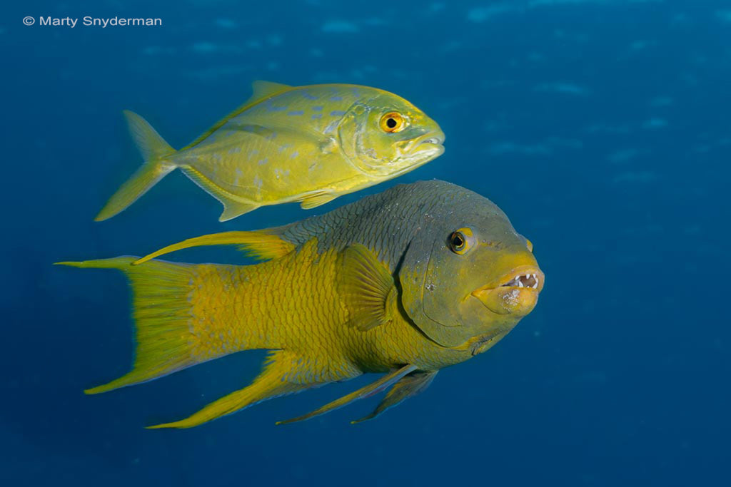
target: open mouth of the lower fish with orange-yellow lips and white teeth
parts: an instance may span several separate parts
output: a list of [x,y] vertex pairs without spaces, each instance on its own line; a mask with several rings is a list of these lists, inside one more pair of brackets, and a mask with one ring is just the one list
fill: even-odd
[[538,302],[545,275],[535,266],[512,269],[499,279],[471,292],[488,310],[499,315],[527,315]]

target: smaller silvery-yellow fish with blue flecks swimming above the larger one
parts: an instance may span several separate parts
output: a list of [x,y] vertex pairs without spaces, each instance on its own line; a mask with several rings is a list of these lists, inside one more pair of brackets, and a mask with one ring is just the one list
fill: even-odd
[[181,150],[126,111],[145,164],[96,221],[121,212],[180,168],[224,204],[221,221],[268,204],[314,208],[389,180],[444,152],[444,134],[409,101],[357,85],[257,81],[254,95]]

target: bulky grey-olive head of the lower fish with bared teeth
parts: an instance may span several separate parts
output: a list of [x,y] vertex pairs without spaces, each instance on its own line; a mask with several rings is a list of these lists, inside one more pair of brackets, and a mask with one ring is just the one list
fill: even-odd
[[532,244],[488,199],[433,184],[444,193],[425,208],[399,269],[404,310],[440,345],[499,340],[533,310],[543,288]]

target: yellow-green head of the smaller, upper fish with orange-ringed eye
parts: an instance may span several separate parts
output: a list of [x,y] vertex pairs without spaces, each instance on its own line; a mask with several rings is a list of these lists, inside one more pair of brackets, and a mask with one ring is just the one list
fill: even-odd
[[373,90],[338,127],[341,147],[360,171],[379,179],[409,172],[444,153],[444,132],[409,101]]

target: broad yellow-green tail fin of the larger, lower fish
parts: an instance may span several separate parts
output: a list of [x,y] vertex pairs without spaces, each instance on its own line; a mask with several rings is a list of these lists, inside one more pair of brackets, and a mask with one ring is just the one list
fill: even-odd
[[[132,372],[103,386],[87,389],[86,394],[111,391],[162,377],[200,364],[225,353],[200,353],[192,326],[189,296],[197,266],[149,261],[132,266],[137,257],[116,257],[96,261],[58,262],[59,265],[96,269],[118,269],[132,284],[135,307],[137,350]],[[219,348],[220,349],[220,348]]]

